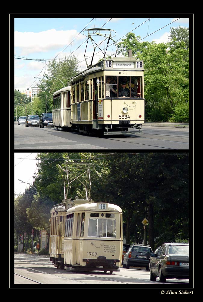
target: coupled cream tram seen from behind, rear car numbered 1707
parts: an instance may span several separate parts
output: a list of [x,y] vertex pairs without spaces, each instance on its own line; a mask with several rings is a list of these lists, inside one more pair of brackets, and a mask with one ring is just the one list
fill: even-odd
[[122,232],[120,207],[66,200],[51,210],[50,260],[61,269],[112,274],[121,266]]

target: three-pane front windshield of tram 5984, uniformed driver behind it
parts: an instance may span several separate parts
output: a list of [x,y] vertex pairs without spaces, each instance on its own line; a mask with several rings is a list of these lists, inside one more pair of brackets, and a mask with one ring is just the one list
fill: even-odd
[[106,76],[106,98],[140,98],[141,77],[138,76]]

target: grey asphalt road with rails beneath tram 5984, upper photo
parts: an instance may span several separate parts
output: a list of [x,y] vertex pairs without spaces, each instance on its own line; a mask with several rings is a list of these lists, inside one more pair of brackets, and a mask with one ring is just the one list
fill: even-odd
[[25,127],[14,123],[14,149],[162,149],[188,150],[189,124],[145,123],[142,132],[97,137],[53,127]]

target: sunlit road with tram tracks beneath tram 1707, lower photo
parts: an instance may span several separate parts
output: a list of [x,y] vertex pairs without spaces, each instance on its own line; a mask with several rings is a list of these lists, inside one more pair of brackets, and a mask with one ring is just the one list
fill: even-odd
[[[143,284],[145,288],[152,286],[163,289],[170,284],[180,288],[189,288],[189,280],[167,279],[160,283],[150,281],[149,271],[142,268],[120,268],[119,272],[113,272],[112,275],[107,271],[67,271],[55,268],[49,261],[49,256],[28,255],[14,253],[14,284],[28,284],[33,286],[46,287],[52,284],[52,288],[57,288],[58,284],[64,287],[87,288],[93,284],[94,287],[107,286],[114,288],[136,287]],[[15,285],[13,284],[13,287]],[[12,284],[10,284],[12,287]],[[16,286],[17,287],[17,286]],[[161,291],[161,290],[160,290]]]

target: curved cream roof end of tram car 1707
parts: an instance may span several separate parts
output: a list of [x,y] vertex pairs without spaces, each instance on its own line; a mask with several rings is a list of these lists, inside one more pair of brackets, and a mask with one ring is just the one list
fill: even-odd
[[[99,211],[101,212],[102,210],[97,209],[98,208],[98,204],[101,204],[101,202],[90,202],[88,204],[79,204],[75,207],[72,207],[70,209],[67,210],[67,213],[72,212],[72,211]],[[109,204],[109,203],[103,203],[103,204],[107,204],[107,209],[103,210],[103,212],[120,212],[122,213],[122,210],[119,206],[115,205],[115,204]]]

